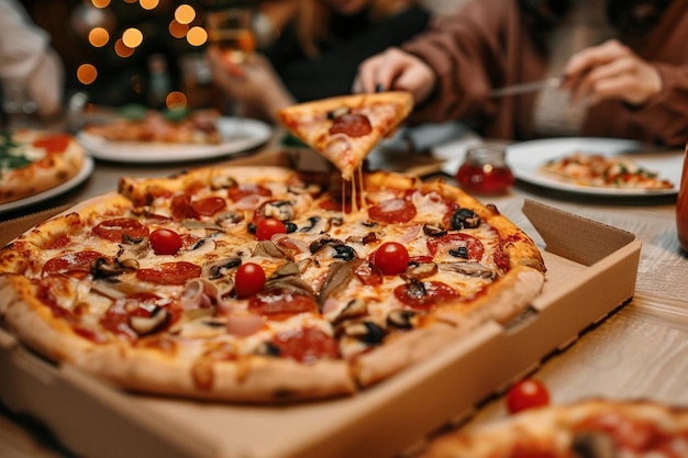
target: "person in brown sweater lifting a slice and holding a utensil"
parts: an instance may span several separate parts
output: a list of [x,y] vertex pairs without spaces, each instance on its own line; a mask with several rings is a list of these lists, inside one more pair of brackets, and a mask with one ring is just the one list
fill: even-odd
[[[356,91],[409,90],[410,122],[460,119],[523,141],[688,143],[688,0],[476,0],[364,62]],[[563,76],[550,88],[500,87]]]

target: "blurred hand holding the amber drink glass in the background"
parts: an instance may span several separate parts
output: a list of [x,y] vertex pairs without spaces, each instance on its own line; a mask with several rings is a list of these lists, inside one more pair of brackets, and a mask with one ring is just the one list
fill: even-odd
[[277,110],[295,102],[265,56],[256,53],[236,64],[215,46],[206,55],[213,82],[240,105],[242,114],[271,120]]

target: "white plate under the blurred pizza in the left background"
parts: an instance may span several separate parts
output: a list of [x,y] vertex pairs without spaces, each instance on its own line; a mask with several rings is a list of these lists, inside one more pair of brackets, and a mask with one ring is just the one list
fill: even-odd
[[155,164],[210,159],[245,152],[267,142],[273,133],[262,121],[226,116],[218,120],[218,130],[222,142],[217,145],[110,142],[85,132],[79,133],[77,139],[98,159]]

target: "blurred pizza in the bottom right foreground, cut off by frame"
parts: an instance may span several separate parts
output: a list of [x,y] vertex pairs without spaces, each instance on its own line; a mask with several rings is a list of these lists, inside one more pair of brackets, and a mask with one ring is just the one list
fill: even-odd
[[530,409],[432,442],[423,458],[680,458],[688,409],[590,399]]

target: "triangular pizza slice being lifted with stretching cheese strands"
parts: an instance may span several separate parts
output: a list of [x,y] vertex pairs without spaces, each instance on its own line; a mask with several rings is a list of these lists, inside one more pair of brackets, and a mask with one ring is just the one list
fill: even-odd
[[410,92],[340,96],[284,108],[281,123],[352,180],[366,156],[413,109]]

